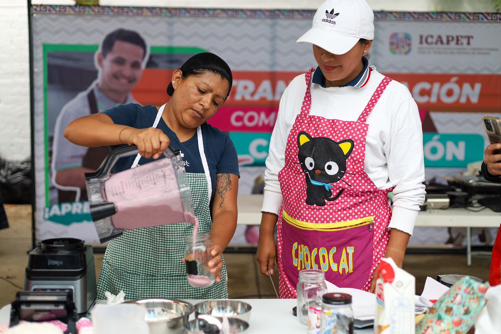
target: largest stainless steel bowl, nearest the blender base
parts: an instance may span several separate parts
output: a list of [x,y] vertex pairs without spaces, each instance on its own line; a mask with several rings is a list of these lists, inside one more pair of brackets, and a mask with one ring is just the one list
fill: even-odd
[[126,302],[146,308],[145,320],[150,334],[182,334],[194,309],[192,304],[176,299],[150,298]]

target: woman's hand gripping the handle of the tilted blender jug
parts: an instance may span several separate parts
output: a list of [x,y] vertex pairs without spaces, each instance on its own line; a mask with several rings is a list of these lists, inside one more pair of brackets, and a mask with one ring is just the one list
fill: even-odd
[[139,154],[145,158],[158,158],[167,149],[170,143],[169,137],[162,130],[154,127],[145,129],[125,128],[120,139],[128,145],[136,145]]

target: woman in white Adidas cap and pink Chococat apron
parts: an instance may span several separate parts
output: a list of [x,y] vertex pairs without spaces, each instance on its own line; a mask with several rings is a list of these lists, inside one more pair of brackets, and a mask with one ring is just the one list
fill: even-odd
[[373,22],[363,0],[328,0],[298,40],[313,44],[318,67],[280,101],[256,256],[265,275],[277,256],[283,298],[296,297],[301,269],[374,291],[383,256],[402,265],[424,201],[418,109],[404,85],[368,65]]

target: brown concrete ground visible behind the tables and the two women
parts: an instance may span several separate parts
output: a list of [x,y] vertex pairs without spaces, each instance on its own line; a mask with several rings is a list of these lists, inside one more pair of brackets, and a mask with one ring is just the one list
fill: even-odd
[[[31,206],[5,206],[10,228],[0,230],[0,308],[11,303],[24,285],[28,251],[31,247]],[[228,271],[230,298],[274,298],[270,279],[261,275],[255,254],[224,254]],[[96,273],[99,275],[103,254],[95,254]],[[416,277],[416,293],[421,293],[426,276],[438,274],[465,274],[486,280],[489,259],[472,260],[466,266],[465,255],[407,254],[403,268]],[[278,269],[275,269],[278,272]],[[278,288],[278,279],[274,278]]]

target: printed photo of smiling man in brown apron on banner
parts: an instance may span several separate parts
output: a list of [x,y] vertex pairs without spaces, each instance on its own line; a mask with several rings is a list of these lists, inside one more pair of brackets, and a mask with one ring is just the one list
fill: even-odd
[[86,201],[85,173],[94,172],[108,147],[83,147],[68,141],[64,129],[73,120],[117,105],[137,103],[130,91],[141,80],[148,59],[144,39],[135,31],[117,29],[104,38],[94,55],[97,79],[66,103],[57,116],[52,145],[51,179],[58,203]]

